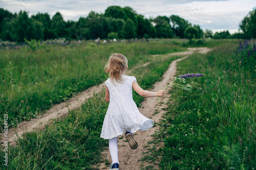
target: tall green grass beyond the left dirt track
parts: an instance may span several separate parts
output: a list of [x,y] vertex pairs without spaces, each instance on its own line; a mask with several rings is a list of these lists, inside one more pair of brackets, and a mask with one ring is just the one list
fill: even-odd
[[[129,67],[150,61],[148,55],[184,51],[175,43],[124,42],[58,46],[44,44],[37,51],[1,50],[0,112],[9,116],[9,126],[36,117],[74,93],[102,83],[103,68],[111,53],[122,53]],[[3,125],[3,117],[0,124]],[[3,126],[2,126],[3,127]]]

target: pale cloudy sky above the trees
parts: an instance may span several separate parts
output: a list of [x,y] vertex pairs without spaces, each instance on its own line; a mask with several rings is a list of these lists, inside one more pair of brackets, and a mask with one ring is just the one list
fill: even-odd
[[179,15],[202,29],[238,32],[241,20],[256,7],[255,0],[0,0],[0,8],[10,12],[28,11],[29,15],[59,11],[65,20],[77,21],[90,11],[104,13],[111,5],[132,7],[146,18]]

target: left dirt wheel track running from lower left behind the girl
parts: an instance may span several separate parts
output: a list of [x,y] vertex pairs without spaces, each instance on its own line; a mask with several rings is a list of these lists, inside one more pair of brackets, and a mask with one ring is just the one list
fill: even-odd
[[[193,54],[194,52],[208,52],[209,48],[188,48],[188,52],[181,52],[181,53],[172,53],[172,54],[167,54],[167,56],[175,56],[175,55],[190,55]],[[163,55],[153,55],[152,57],[157,57],[157,56],[163,56]],[[144,63],[139,66],[146,66],[150,62]],[[136,69],[137,67],[134,67],[133,69]],[[129,74],[131,70],[127,70],[127,74]],[[166,84],[164,84],[166,85]],[[93,96],[93,93],[99,93],[103,88],[104,88],[104,83],[98,85],[98,86],[93,86],[90,87],[87,90],[84,90],[81,93],[76,94],[66,102],[62,102],[60,104],[54,105],[51,109],[47,110],[46,113],[43,115],[38,115],[37,118],[32,118],[29,121],[24,121],[21,122],[17,125],[16,128],[11,128],[8,131],[8,136],[9,140],[8,142],[10,144],[14,144],[15,140],[18,137],[22,138],[22,135],[25,132],[32,132],[37,129],[43,129],[45,128],[45,125],[50,124],[51,120],[57,119],[57,118],[62,118],[68,115],[69,110],[73,109],[78,109],[82,103],[84,103],[87,99],[91,98]],[[160,88],[158,88],[160,89]],[[149,116],[150,117],[150,116]],[[1,133],[1,138],[3,139],[4,133]],[[148,141],[148,140],[147,140]]]

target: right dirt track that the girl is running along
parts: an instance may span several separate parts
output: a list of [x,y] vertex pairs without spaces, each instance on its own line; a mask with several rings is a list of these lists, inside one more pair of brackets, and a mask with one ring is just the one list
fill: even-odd
[[[156,84],[154,84],[154,89],[152,89],[152,91],[158,91],[160,89],[163,89],[164,87],[166,87],[171,80],[175,79],[175,75],[176,75],[176,64],[177,62],[185,59],[188,57],[188,55],[193,54],[193,52],[198,51],[198,53],[207,53],[210,51],[209,48],[203,47],[203,48],[193,48],[190,50],[193,51],[189,51],[189,52],[181,52],[181,53],[175,53],[176,55],[187,55],[183,58],[174,60],[172,63],[170,63],[168,70],[165,72],[165,74],[163,75],[163,80],[161,82],[157,82]],[[174,56],[175,54],[169,54],[169,56]],[[160,55],[157,55],[160,56]],[[153,56],[153,57],[157,57],[157,56]],[[152,117],[151,119],[154,120],[154,122],[158,123],[159,119],[161,119],[162,115],[164,114],[164,110],[163,108],[166,108],[166,103],[168,101],[168,99],[170,98],[171,94],[168,94],[167,91],[170,88],[166,89],[166,94],[164,95],[163,98],[160,99],[159,102],[157,102],[158,98],[146,98],[143,102],[141,107],[139,108],[139,111],[146,117]],[[163,103],[163,104],[160,104]],[[157,114],[155,114],[155,111],[158,111]],[[138,148],[136,150],[132,150],[129,147],[129,144],[125,141],[125,137],[124,134],[122,135],[122,137],[119,136],[118,139],[118,159],[119,159],[119,164],[120,164],[120,168],[119,170],[125,170],[125,169],[141,169],[140,165],[142,162],[138,161],[143,152],[146,151],[146,149],[144,148],[145,145],[147,145],[147,142],[152,140],[153,137],[152,135],[155,133],[155,131],[159,131],[159,127],[153,127],[152,129],[148,130],[148,131],[137,131],[135,134],[135,138],[138,142]],[[122,138],[122,139],[120,139]],[[111,156],[109,153],[109,149],[103,151],[102,153],[102,160],[108,159],[109,162],[111,162]],[[144,166],[146,166],[147,163],[144,162]],[[148,164],[150,165],[150,164]],[[154,164],[151,164],[154,165]],[[108,169],[109,165],[105,165],[104,163],[99,163],[97,165],[95,165],[95,167],[98,167],[99,169]],[[154,167],[155,169],[159,169],[156,165]]]

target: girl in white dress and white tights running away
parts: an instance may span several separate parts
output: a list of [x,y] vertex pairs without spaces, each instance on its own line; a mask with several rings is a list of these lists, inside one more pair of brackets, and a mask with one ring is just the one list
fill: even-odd
[[117,137],[126,131],[125,137],[132,149],[138,147],[133,134],[136,131],[145,131],[153,127],[153,120],[143,116],[133,101],[133,89],[141,96],[160,97],[164,90],[151,92],[143,90],[134,76],[126,76],[128,61],[122,54],[112,54],[105,66],[109,72],[109,79],[105,81],[105,101],[110,102],[104,118],[100,137],[109,139],[109,148],[112,158],[110,169],[118,169]]

